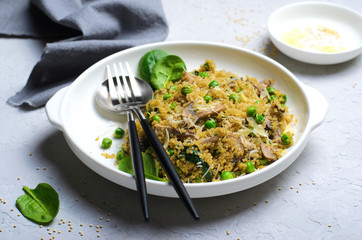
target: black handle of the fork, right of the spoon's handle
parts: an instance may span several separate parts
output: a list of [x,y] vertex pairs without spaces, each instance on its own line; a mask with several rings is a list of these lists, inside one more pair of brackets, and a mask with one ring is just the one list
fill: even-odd
[[155,132],[153,131],[153,129],[151,128],[149,123],[147,122],[142,111],[139,108],[134,108],[134,111],[135,111],[138,119],[140,120],[143,131],[145,132],[159,162],[161,163],[162,168],[165,170],[176,193],[180,197],[180,199],[183,202],[183,204],[185,205],[186,209],[193,216],[193,218],[195,220],[198,220],[200,218],[199,214],[197,213],[185,186],[183,185],[174,166],[172,165],[172,162],[171,162],[170,158],[168,157],[165,149],[163,148],[160,140],[158,139],[157,135],[155,134]]

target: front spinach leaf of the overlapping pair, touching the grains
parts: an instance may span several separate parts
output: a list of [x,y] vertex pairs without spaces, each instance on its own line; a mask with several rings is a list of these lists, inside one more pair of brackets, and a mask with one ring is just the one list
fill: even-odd
[[176,55],[168,55],[158,61],[152,70],[151,83],[156,90],[164,88],[169,81],[180,80],[186,64]]

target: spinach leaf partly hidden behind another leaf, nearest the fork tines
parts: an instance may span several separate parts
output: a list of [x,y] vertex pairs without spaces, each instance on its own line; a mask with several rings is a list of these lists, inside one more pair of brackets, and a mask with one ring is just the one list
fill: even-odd
[[147,52],[138,62],[138,76],[151,84],[151,73],[156,63],[168,55],[167,52],[155,49]]

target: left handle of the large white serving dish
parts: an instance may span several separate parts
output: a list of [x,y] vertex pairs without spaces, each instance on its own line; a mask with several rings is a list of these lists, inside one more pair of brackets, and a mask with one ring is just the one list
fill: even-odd
[[67,89],[68,87],[60,89],[54,94],[52,98],[49,99],[49,101],[45,105],[45,112],[48,116],[49,122],[62,132],[63,125],[60,116],[60,106]]

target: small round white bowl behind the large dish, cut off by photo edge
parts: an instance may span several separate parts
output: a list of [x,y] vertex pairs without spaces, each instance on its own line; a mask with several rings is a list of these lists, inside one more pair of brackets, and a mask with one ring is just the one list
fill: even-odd
[[[345,50],[324,52],[311,48],[302,49],[286,43],[286,39],[283,39],[283,36],[291,33],[293,29],[310,30],[311,26],[322,26],[335,31],[339,37],[335,39],[335,43],[338,41]],[[362,53],[362,15],[337,4],[300,2],[284,6],[269,16],[267,28],[271,41],[281,52],[302,62],[336,64],[351,60]],[[318,40],[314,43],[318,45]]]

